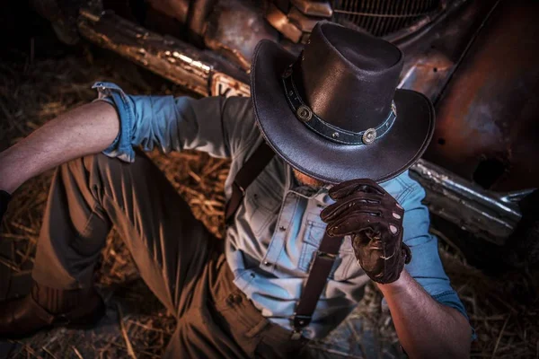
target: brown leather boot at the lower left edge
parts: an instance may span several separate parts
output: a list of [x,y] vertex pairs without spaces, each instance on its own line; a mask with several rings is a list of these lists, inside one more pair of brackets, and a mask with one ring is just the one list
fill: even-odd
[[0,303],[0,338],[53,327],[91,328],[104,314],[105,304],[93,288],[65,291],[34,283],[26,297]]

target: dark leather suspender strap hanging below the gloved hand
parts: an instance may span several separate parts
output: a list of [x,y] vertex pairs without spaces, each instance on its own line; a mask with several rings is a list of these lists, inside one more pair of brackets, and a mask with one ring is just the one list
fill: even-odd
[[309,272],[307,283],[297,303],[296,312],[292,316],[292,339],[301,337],[302,329],[313,319],[316,303],[320,299],[323,288],[331,273],[335,259],[339,255],[343,237],[330,237],[324,232],[320,247],[316,251],[313,266]]

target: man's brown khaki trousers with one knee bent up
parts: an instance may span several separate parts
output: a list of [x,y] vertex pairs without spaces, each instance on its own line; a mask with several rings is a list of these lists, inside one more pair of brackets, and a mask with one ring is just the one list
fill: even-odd
[[305,345],[266,320],[234,285],[222,241],[190,213],[153,162],[102,154],[57,169],[33,270],[41,285],[92,284],[112,225],[140,275],[178,318],[165,357],[290,357]]

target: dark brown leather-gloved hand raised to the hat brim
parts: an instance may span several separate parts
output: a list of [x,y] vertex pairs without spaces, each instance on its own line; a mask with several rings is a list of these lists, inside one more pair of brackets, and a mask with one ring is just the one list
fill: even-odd
[[377,283],[399,279],[411,250],[402,243],[404,209],[373,180],[348,180],[329,191],[321,217],[331,237],[350,235],[359,266]]

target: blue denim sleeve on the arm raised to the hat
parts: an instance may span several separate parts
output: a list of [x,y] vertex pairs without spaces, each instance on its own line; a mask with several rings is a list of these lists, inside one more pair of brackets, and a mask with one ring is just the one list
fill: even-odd
[[406,270],[437,302],[455,308],[469,320],[463,302],[451,287],[442,266],[437,237],[429,233],[429,209],[421,204],[425,190],[418,182],[406,177],[406,194],[400,200],[404,208],[402,241],[410,247],[412,255]]

